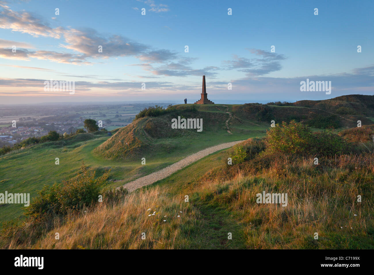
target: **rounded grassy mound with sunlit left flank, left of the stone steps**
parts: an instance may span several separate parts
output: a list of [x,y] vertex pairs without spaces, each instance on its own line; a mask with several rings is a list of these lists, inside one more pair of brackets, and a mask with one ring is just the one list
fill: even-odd
[[[203,132],[196,129],[172,129],[172,118],[202,118]],[[126,127],[94,150],[96,154],[111,160],[135,159],[147,156],[161,156],[177,153],[189,146],[189,141],[202,135],[224,133],[223,125],[227,115],[216,112],[194,111],[189,106],[176,106],[175,110],[157,117],[142,117]],[[184,140],[177,143],[176,140]]]

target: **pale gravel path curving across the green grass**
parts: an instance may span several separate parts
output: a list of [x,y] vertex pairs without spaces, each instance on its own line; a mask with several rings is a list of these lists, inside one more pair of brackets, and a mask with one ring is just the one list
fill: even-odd
[[[234,146],[237,143],[242,142],[243,140],[239,141],[233,141],[233,142],[228,142],[228,143],[222,143],[216,146],[212,146],[209,148],[206,148],[204,150],[201,150],[197,153],[194,153],[187,158],[181,159],[178,162],[175,162],[172,165],[169,165],[159,171],[153,172],[149,175],[146,175],[144,177],[137,178],[136,180],[130,181],[129,183],[126,183],[124,186],[129,192],[132,192],[140,187],[146,186],[148,184],[152,184],[158,180],[162,180],[163,178],[168,177],[169,175],[173,174],[174,172],[177,172],[178,170],[186,167],[187,165],[198,161],[199,159],[208,156],[214,152],[217,152],[222,149],[226,149],[229,147]],[[119,188],[119,187],[118,187]]]

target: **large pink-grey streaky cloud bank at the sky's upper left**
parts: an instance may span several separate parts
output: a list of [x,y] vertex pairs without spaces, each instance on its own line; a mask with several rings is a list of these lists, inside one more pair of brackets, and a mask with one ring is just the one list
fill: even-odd
[[[149,3],[152,4],[152,3]],[[92,28],[77,30],[74,28],[52,28],[42,19],[36,18],[27,12],[18,13],[7,6],[0,12],[0,28],[27,33],[34,37],[44,36],[63,39],[60,47],[70,49],[78,54],[61,53],[52,51],[30,52],[25,49],[17,50],[16,55],[9,54],[4,49],[1,51],[3,58],[22,59],[37,58],[48,59],[53,62],[70,63],[76,65],[92,64],[93,59],[106,59],[119,56],[134,56],[141,61],[163,62],[176,58],[176,53],[167,49],[154,49],[148,45],[138,43],[120,35],[104,36]],[[9,46],[7,40],[3,40]],[[102,46],[102,52],[98,47]],[[23,48],[28,48],[23,47]],[[19,54],[18,54],[19,51]]]

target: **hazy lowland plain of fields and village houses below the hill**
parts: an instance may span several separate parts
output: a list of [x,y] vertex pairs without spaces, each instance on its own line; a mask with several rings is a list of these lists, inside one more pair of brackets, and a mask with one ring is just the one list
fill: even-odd
[[[51,103],[0,105],[0,148],[13,146],[30,137],[42,137],[50,131],[70,134],[84,127],[85,119],[102,120],[109,131],[128,125],[139,111],[154,103]],[[169,103],[161,103],[168,106]],[[16,120],[16,127],[12,127]]]

